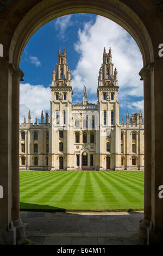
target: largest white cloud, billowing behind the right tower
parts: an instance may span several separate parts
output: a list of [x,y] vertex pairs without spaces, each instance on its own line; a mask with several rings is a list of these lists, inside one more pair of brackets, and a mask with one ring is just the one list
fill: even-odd
[[109,19],[97,16],[93,25],[87,22],[83,31],[79,29],[78,38],[74,48],[80,53],[80,59],[76,69],[72,71],[74,93],[83,91],[84,85],[87,92],[96,93],[103,50],[105,47],[106,52],[109,52],[111,47],[112,63],[118,71],[120,100],[130,96],[143,97],[143,82],[139,76],[143,66],[141,53],[134,39],[122,27]]

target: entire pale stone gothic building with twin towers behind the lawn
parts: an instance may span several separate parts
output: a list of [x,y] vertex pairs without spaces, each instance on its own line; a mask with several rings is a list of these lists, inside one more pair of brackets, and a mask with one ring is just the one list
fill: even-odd
[[[52,72],[51,118],[46,122],[20,125],[20,169],[122,170],[144,169],[144,125],[142,113],[133,113],[119,123],[117,69],[111,48],[104,48],[99,69],[98,103],[72,104],[71,72],[66,50],[58,52],[57,72]],[[49,120],[51,122],[49,123]]]

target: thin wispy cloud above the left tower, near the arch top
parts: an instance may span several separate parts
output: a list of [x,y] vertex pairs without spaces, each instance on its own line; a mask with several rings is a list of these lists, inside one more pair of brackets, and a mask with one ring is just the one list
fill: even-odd
[[65,31],[67,27],[72,26],[72,22],[70,21],[71,17],[72,15],[66,15],[59,17],[57,20],[54,21],[54,28],[59,31],[59,36],[61,36],[61,38],[65,37]]

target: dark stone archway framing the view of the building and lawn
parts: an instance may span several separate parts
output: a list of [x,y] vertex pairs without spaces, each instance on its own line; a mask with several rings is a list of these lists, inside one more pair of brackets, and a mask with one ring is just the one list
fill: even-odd
[[[162,163],[162,80],[163,15],[152,0],[29,0],[11,1],[1,15],[1,186],[3,209],[0,218],[2,243],[21,243],[24,226],[20,220],[18,172],[19,83],[23,79],[20,60],[24,47],[41,26],[56,17],[92,13],[108,17],[126,29],[139,45],[143,58],[140,71],[145,102],[145,214],[140,223],[140,243],[158,243],[163,233],[163,203],[158,188],[163,184]],[[10,228],[9,228],[10,227]],[[16,233],[15,231],[16,230]]]

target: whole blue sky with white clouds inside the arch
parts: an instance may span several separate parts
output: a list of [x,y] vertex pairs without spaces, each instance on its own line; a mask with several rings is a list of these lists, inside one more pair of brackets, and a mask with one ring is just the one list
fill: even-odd
[[133,38],[115,22],[93,14],[73,14],[55,19],[39,29],[29,40],[21,59],[24,82],[20,84],[20,122],[28,116],[40,119],[41,110],[50,111],[52,70],[66,48],[71,70],[73,103],[82,101],[86,86],[87,100],[97,102],[98,71],[103,49],[112,50],[112,62],[118,70],[120,123],[126,111],[143,112],[143,82],[139,71],[143,63]]

